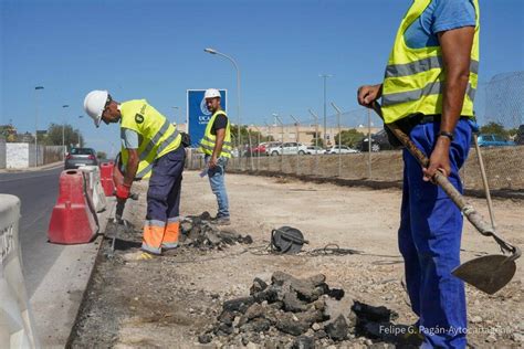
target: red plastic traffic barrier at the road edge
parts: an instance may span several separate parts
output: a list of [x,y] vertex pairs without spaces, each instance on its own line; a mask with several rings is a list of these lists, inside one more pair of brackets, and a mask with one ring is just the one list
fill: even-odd
[[92,241],[96,232],[97,218],[87,198],[84,172],[62,171],[59,200],[49,223],[49,241],[57,244],[82,244]]

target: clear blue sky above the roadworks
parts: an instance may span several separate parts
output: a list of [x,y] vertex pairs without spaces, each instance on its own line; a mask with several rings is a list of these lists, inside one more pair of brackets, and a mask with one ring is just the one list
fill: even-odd
[[[172,119],[171,106],[186,106],[186,89],[228,88],[235,119],[234,70],[205,53],[208,46],[240,65],[245,124],[262,124],[272,113],[308,119],[310,107],[322,115],[321,73],[334,75],[328,101],[355,109],[356,88],[380,82],[410,1],[0,3],[0,123],[12,119],[20,130],[32,131],[33,88],[43,85],[39,128],[65,117],[82,127],[91,146],[109,150],[111,141],[118,145],[117,125],[96,129],[90,118],[77,118],[91,89],[109,89],[117,101],[146,98]],[[481,81],[523,71],[524,1],[481,0]]]

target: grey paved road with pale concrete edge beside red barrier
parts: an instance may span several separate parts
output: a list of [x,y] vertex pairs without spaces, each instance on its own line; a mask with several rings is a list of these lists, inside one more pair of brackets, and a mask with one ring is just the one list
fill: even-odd
[[[0,193],[22,202],[19,226],[23,274],[36,336],[43,348],[66,343],[94,265],[101,239],[81,245],[48,242],[48,226],[59,194],[62,167],[17,173],[0,173]],[[111,212],[109,201],[107,212]],[[98,215],[101,232],[107,212]]]

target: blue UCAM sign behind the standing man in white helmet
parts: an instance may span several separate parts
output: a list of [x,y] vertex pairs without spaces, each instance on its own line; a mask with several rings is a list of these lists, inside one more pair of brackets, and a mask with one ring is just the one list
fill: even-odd
[[[228,113],[228,91],[220,91],[220,105],[222,109]],[[208,110],[206,106],[206,99],[203,94],[206,89],[188,89],[187,91],[187,124],[188,124],[188,134],[191,137],[191,147],[198,147],[200,139],[203,137],[206,127],[208,126],[209,120],[212,117],[212,113]]]

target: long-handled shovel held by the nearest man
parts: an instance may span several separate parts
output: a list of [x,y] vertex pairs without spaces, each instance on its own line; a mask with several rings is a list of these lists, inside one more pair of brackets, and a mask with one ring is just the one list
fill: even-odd
[[[378,103],[375,102],[373,104],[373,109],[384,120],[382,110]],[[429,159],[419,148],[417,148],[411,139],[409,139],[409,136],[406,135],[396,124],[385,125],[417,159],[420,166],[427,168]],[[501,247],[502,255],[493,254],[473,258],[459,265],[451,272],[454,276],[480,290],[490,295],[494,294],[504,287],[513,278],[513,275],[515,275],[515,261],[521,256],[521,250],[496,234],[494,226],[484,221],[482,215],[464,199],[453,184],[451,184],[444,174],[437,171],[432,181],[442,188],[479,233],[484,236],[493,237]],[[510,255],[506,255],[505,253],[510,253]]]

